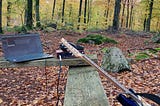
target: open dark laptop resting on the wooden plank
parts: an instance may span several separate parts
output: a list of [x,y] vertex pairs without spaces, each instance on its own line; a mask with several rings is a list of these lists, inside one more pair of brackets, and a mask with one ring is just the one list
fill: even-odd
[[10,62],[53,57],[43,52],[39,34],[5,35],[1,41],[4,57]]

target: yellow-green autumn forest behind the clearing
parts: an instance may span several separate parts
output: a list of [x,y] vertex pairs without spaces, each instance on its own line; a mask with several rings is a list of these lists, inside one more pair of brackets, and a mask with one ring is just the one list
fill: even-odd
[[[27,1],[32,0],[3,0],[3,30],[26,24]],[[54,23],[58,29],[96,30],[110,28],[115,21],[118,29],[157,32],[160,31],[159,5],[160,0],[33,0],[31,7],[33,26],[37,22],[42,26]],[[118,18],[114,20],[116,15]]]

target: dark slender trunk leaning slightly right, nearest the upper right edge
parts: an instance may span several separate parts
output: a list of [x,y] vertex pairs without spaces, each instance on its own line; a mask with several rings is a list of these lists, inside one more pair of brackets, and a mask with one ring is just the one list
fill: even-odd
[[152,10],[153,10],[153,2],[154,0],[151,0],[149,3],[149,14],[148,14],[148,18],[146,20],[146,32],[150,31],[150,25],[151,25],[151,18],[152,18]]

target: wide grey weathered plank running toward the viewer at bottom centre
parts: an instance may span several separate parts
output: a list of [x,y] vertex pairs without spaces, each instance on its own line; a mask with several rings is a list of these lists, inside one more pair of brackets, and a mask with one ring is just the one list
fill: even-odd
[[64,106],[109,106],[99,74],[93,67],[70,68]]

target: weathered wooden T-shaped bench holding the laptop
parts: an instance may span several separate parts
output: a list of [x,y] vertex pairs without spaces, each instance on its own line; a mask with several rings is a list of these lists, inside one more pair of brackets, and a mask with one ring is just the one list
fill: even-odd
[[[89,55],[88,57],[97,61],[95,55]],[[0,68],[58,65],[59,60],[56,58],[10,63],[0,57]],[[63,59],[62,65],[70,66],[64,106],[109,106],[98,72],[93,67],[80,58]]]

